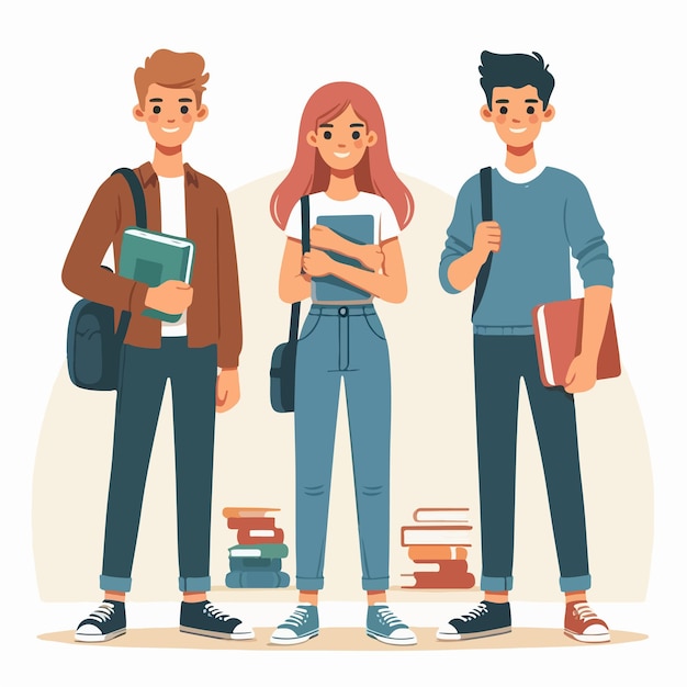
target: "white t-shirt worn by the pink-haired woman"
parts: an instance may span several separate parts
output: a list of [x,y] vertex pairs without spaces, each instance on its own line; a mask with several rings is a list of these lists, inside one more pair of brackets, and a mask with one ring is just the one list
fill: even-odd
[[[335,201],[324,191],[311,195],[311,226],[318,215],[372,215],[374,217],[375,243],[395,238],[401,234],[396,215],[391,205],[374,193],[361,191],[348,201]],[[299,201],[289,215],[284,229],[286,236],[301,240],[301,202]]]

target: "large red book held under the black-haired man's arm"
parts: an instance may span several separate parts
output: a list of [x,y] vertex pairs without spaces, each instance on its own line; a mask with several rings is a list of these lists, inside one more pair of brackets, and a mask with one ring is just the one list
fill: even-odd
[[[582,349],[584,299],[570,299],[537,305],[532,309],[539,372],[544,386],[564,386],[573,358]],[[597,380],[620,374],[620,354],[612,306],[599,349]]]

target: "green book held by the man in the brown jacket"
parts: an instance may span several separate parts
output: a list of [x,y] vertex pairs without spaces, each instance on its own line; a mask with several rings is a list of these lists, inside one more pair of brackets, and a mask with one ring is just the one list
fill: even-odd
[[[124,229],[119,273],[159,286],[170,279],[191,283],[195,245],[188,238],[150,232],[139,227]],[[165,322],[178,322],[181,315],[169,315],[153,308],[143,314]]]

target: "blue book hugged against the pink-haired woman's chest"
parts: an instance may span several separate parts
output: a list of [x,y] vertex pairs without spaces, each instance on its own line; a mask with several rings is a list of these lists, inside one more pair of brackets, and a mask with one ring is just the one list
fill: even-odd
[[[353,244],[374,243],[374,217],[372,215],[319,215],[317,224],[329,227],[339,236]],[[327,255],[337,262],[352,264],[362,268],[363,266],[348,256],[342,256],[333,250],[327,250]],[[363,268],[367,269],[367,268]],[[327,277],[313,277],[312,299],[316,303],[350,303],[356,301],[369,301],[371,294],[345,282],[338,277],[328,274]]]

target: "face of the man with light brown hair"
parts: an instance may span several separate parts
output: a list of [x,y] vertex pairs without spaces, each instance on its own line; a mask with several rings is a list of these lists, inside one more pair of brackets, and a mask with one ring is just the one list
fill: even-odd
[[207,108],[196,108],[195,93],[190,88],[166,88],[151,83],[144,108],[134,108],[134,117],[145,122],[156,144],[168,148],[180,146],[193,131],[195,122],[207,116]]

